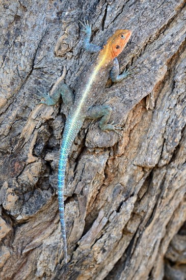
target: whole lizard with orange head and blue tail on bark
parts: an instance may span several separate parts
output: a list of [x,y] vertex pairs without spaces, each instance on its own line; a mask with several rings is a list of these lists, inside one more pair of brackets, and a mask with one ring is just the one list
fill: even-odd
[[117,60],[117,56],[130,39],[131,31],[117,30],[101,48],[90,43],[92,24],[89,24],[88,20],[86,21],[85,19],[84,23],[81,22],[81,24],[84,28],[82,31],[86,33],[83,47],[90,52],[97,53],[95,61],[84,67],[76,84],[75,97],[70,88],[65,83],[62,83],[62,79],[59,79],[59,82],[55,84],[55,89],[52,89],[52,95],[50,96],[49,93],[43,94],[44,101],[40,102],[49,106],[56,105],[60,96],[62,96],[64,104],[70,107],[65,122],[58,166],[58,202],[65,263],[67,263],[68,255],[64,214],[64,186],[71,145],[86,118],[101,118],[99,127],[102,131],[113,130],[119,133],[117,129],[121,129],[120,127],[116,127],[113,123],[108,123],[112,108],[108,105],[93,105],[101,95],[109,75],[113,82],[118,82],[132,73],[124,71],[119,75],[119,63]]

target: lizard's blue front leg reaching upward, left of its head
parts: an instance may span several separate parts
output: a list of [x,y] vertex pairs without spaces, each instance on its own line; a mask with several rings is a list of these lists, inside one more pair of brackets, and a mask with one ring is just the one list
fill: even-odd
[[[79,20],[79,22],[81,22]],[[81,24],[84,26],[85,29],[83,29],[82,31],[84,31],[86,33],[85,39],[84,39],[84,44],[83,47],[90,51],[90,52],[98,52],[101,50],[101,47],[95,45],[95,44],[91,44],[90,43],[90,38],[91,38],[91,33],[92,33],[92,24],[89,25],[89,22],[87,20],[87,22],[84,19],[84,23],[81,22]]]

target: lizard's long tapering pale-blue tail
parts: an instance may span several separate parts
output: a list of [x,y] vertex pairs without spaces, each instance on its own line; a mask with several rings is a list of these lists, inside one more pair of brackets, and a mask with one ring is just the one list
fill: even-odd
[[65,171],[68,160],[68,154],[71,145],[76,137],[79,129],[82,127],[83,119],[69,116],[63,133],[60,160],[58,167],[58,202],[60,212],[61,233],[63,239],[63,248],[65,255],[65,263],[67,263],[67,240],[66,240],[66,226],[65,226],[65,213],[64,213],[64,186],[65,186]]

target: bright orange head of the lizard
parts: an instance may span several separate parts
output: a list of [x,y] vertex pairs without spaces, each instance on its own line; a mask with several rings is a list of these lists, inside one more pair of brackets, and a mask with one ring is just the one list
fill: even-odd
[[130,39],[130,36],[130,30],[119,29],[111,38],[109,38],[103,49],[107,52],[107,55],[110,59],[113,60],[122,52],[128,40]]

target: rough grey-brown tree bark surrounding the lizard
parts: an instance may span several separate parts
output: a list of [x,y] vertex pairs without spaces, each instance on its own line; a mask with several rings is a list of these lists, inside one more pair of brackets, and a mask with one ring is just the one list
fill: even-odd
[[[1,16],[1,279],[184,279],[184,1],[1,0]],[[109,80],[98,101],[123,138],[86,121],[72,146],[64,265],[57,169],[68,109],[37,103],[64,65],[73,90],[92,59],[83,17],[99,45],[132,31],[119,63],[137,73]]]

